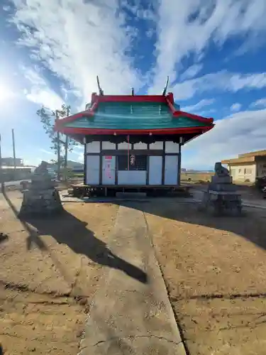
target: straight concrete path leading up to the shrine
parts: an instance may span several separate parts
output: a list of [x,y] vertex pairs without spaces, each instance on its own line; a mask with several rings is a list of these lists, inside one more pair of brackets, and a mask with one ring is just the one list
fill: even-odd
[[[131,204],[133,205],[133,203]],[[185,355],[143,212],[119,207],[80,355]]]

